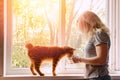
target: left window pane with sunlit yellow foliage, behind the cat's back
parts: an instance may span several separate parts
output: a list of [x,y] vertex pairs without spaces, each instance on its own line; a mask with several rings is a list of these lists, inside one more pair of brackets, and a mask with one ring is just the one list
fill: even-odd
[[59,0],[12,0],[13,68],[29,67],[26,43],[58,44],[58,13]]

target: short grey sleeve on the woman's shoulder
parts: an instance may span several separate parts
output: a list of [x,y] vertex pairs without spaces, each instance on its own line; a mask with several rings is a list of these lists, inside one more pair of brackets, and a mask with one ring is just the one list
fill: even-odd
[[94,45],[107,44],[109,42],[109,35],[104,31],[99,31],[94,37]]

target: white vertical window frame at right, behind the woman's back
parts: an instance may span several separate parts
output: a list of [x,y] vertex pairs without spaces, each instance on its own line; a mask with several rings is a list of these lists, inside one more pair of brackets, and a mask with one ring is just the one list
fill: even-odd
[[108,0],[108,26],[111,35],[110,69],[120,71],[120,0]]

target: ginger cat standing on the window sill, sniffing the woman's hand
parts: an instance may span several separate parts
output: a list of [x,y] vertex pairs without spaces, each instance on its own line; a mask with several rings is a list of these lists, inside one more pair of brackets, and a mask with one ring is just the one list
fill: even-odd
[[74,48],[68,46],[33,46],[31,43],[26,44],[26,48],[28,49],[28,56],[31,60],[30,70],[33,75],[36,75],[34,72],[35,69],[40,76],[44,76],[44,74],[39,69],[42,61],[49,58],[53,59],[52,74],[53,76],[56,76],[55,69],[60,59],[65,55],[71,57],[75,50]]

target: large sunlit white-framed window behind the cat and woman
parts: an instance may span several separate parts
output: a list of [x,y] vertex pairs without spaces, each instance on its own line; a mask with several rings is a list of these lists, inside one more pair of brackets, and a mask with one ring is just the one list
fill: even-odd
[[[72,46],[76,48],[75,55],[83,56],[82,50],[84,40],[80,37],[76,27],[76,19],[80,13],[85,10],[92,10],[112,30],[112,43],[119,43],[119,18],[114,18],[112,14],[119,15],[108,11],[111,2],[108,0],[5,0],[5,12],[7,23],[5,25],[5,75],[23,75],[31,74],[29,70],[29,59],[27,50],[24,47],[26,42],[34,45],[58,45]],[[108,2],[108,4],[107,4]],[[113,1],[114,2],[114,1]],[[110,5],[111,4],[111,5]],[[107,5],[107,8],[106,8]],[[115,6],[115,5],[114,5]],[[119,7],[116,5],[116,7]],[[107,12],[108,11],[108,12]],[[109,15],[107,15],[110,12]],[[111,17],[112,16],[112,17]],[[109,20],[116,20],[116,24]],[[107,21],[108,20],[108,21]],[[112,21],[113,22],[113,21]],[[113,28],[112,26],[116,26]],[[81,43],[83,42],[83,43]],[[112,45],[110,70],[119,71],[120,60],[119,44]],[[113,55],[112,53],[116,53]],[[114,56],[114,57],[112,57]],[[114,61],[112,61],[114,59]],[[114,63],[115,62],[115,63]],[[83,73],[83,64],[70,64],[69,60],[64,59],[62,73]],[[115,65],[114,65],[115,64]],[[51,66],[51,63],[43,64],[44,68]],[[61,66],[61,65],[60,65]],[[48,71],[45,71],[48,72]]]

